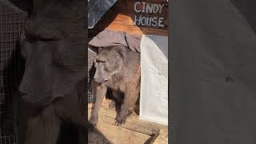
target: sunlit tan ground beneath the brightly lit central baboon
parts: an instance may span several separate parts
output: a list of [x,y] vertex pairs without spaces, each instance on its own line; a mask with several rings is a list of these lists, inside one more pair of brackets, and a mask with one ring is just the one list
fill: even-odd
[[[109,108],[110,100],[102,103],[98,126],[89,132],[89,144],[166,144],[168,143],[167,126],[158,125],[152,122],[145,122],[138,119],[136,114],[127,118],[126,124],[116,126],[114,118],[116,111]],[[91,104],[88,106],[90,118]]]

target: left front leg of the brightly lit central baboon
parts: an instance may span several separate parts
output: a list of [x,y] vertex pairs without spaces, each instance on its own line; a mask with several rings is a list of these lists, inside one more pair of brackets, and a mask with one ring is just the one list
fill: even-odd
[[100,106],[102,105],[102,100],[106,95],[106,86],[104,83],[98,85],[96,87],[96,94],[95,94],[95,102],[93,103],[90,120],[89,122],[94,126],[97,125],[98,122],[98,111]]

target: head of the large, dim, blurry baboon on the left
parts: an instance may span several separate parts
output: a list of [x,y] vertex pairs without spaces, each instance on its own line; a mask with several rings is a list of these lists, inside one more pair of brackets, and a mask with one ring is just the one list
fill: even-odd
[[21,40],[25,73],[19,90],[28,102],[52,102],[85,78],[85,4],[34,0]]

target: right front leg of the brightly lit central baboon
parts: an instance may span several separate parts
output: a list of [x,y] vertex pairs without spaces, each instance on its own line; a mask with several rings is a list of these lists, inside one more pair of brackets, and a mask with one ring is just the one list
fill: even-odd
[[133,110],[133,107],[137,101],[136,97],[136,90],[133,87],[130,87],[125,91],[122,109],[120,114],[116,118],[116,124],[118,126],[126,122],[128,110]]

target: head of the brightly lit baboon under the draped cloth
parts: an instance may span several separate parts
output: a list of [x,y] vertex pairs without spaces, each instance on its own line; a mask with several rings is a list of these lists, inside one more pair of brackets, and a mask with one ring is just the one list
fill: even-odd
[[96,56],[94,66],[96,72],[94,79],[96,82],[105,82],[112,75],[118,73],[122,69],[123,58],[122,54],[117,49],[106,47],[100,50]]

